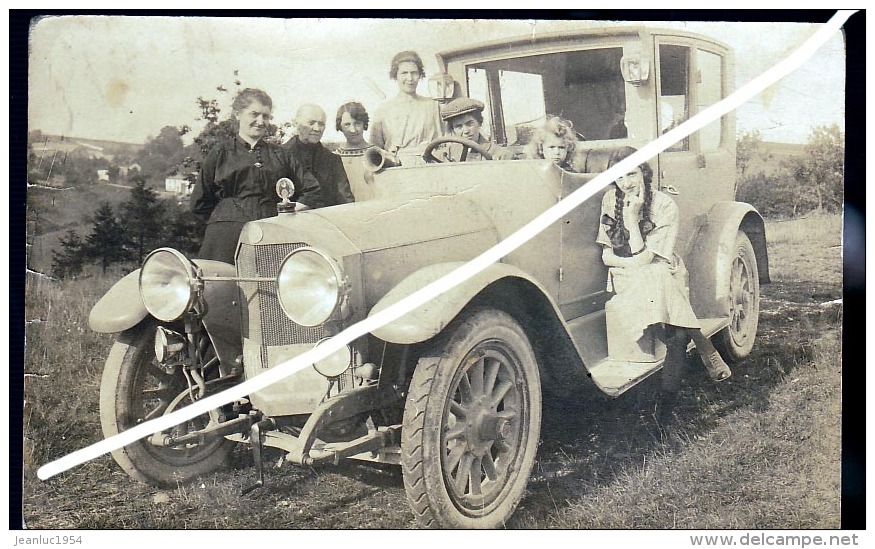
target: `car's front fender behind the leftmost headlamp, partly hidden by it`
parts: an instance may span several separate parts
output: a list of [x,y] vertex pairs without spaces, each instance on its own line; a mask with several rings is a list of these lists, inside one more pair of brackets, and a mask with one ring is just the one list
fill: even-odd
[[[222,362],[233,361],[243,351],[240,339],[240,299],[234,265],[209,259],[193,259],[206,276],[229,277],[229,280],[211,280],[204,284],[204,300],[207,314],[204,328],[213,342],[216,354]],[[140,297],[140,269],[115,283],[94,305],[88,315],[88,326],[95,332],[115,333],[133,328],[143,321],[149,312]]]

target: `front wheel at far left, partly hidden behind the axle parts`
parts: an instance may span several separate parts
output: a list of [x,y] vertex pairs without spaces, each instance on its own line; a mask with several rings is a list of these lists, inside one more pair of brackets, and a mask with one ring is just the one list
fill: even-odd
[[[168,374],[158,367],[154,337],[157,325],[143,322],[119,335],[110,350],[100,382],[100,424],[109,438],[168,412],[171,404],[190,404],[180,395],[188,390],[177,369]],[[207,353],[212,353],[211,349]],[[174,402],[175,401],[175,402]],[[214,412],[216,413],[216,412]],[[204,428],[208,415],[172,429],[173,436]],[[192,442],[184,447],[159,447],[148,437],[112,452],[112,457],[132,478],[156,486],[174,487],[224,465],[234,443],[223,438]]]

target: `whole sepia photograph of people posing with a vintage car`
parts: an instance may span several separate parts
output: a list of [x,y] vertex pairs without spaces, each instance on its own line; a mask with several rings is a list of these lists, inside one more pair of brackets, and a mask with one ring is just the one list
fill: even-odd
[[841,528],[846,36],[713,16],[31,19],[21,527]]

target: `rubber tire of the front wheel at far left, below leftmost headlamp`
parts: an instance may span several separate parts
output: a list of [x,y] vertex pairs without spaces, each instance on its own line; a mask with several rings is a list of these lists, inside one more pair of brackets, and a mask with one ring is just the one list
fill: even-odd
[[[156,328],[154,321],[142,322],[119,334],[110,350],[100,382],[100,425],[105,438],[130,429],[137,424],[137,416],[144,415],[135,409],[136,394],[142,389],[138,385],[145,383],[145,374],[160,373],[152,365]],[[184,380],[178,383],[185,387]],[[204,448],[185,450],[160,448],[140,439],[114,450],[112,457],[132,478],[173,488],[179,482],[223,467],[233,448],[234,443],[225,439],[210,441]]]

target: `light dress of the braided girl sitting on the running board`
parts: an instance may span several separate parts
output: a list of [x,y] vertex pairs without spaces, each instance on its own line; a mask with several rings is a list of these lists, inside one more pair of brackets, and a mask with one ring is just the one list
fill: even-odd
[[[602,199],[602,215],[596,242],[612,247],[609,236],[614,222],[616,188]],[[628,341],[637,341],[648,326],[670,324],[699,328],[690,305],[688,275],[683,260],[674,252],[678,234],[678,207],[668,195],[655,191],[650,207],[653,229],[644,237],[653,261],[636,267],[608,269],[608,291],[616,295],[607,308],[616,315],[610,324],[623,331]],[[606,312],[606,314],[608,314]]]

